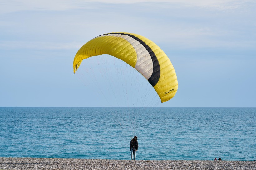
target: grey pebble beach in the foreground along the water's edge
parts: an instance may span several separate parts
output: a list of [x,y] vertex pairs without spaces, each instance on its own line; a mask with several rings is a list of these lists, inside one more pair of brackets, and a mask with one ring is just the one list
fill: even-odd
[[0,169],[256,169],[256,161],[0,158]]

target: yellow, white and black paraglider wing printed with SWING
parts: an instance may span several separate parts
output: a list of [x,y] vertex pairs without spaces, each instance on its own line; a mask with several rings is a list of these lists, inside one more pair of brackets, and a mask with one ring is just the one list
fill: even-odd
[[121,59],[140,72],[155,88],[162,103],[170,100],[177,92],[177,76],[170,59],[149,39],[124,32],[97,36],[76,53],[74,73],[83,59],[102,54]]

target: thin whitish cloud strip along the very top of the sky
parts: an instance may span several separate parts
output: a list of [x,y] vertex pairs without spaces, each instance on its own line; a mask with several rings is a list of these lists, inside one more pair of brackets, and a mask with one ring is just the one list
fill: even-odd
[[252,2],[254,0],[244,0],[243,2],[237,0],[3,0],[0,2],[0,13],[10,13],[17,11],[26,10],[70,10],[70,9],[91,9],[95,8],[95,3],[106,3],[106,4],[135,4],[135,3],[170,3],[179,4],[182,6],[197,6],[197,7],[207,7],[207,8],[219,8],[219,9],[230,9],[237,8],[243,3]]

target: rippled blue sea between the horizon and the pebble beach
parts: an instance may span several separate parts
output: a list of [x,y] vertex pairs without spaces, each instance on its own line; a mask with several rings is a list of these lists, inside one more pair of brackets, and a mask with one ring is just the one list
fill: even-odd
[[0,157],[256,160],[256,108],[0,107]]

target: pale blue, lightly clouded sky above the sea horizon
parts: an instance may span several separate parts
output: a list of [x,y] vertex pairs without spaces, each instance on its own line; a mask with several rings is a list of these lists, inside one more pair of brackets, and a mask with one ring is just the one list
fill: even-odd
[[[255,0],[0,0],[0,106],[256,107],[255,9]],[[167,54],[179,83],[170,101],[111,56],[73,73],[80,47],[109,32]]]

